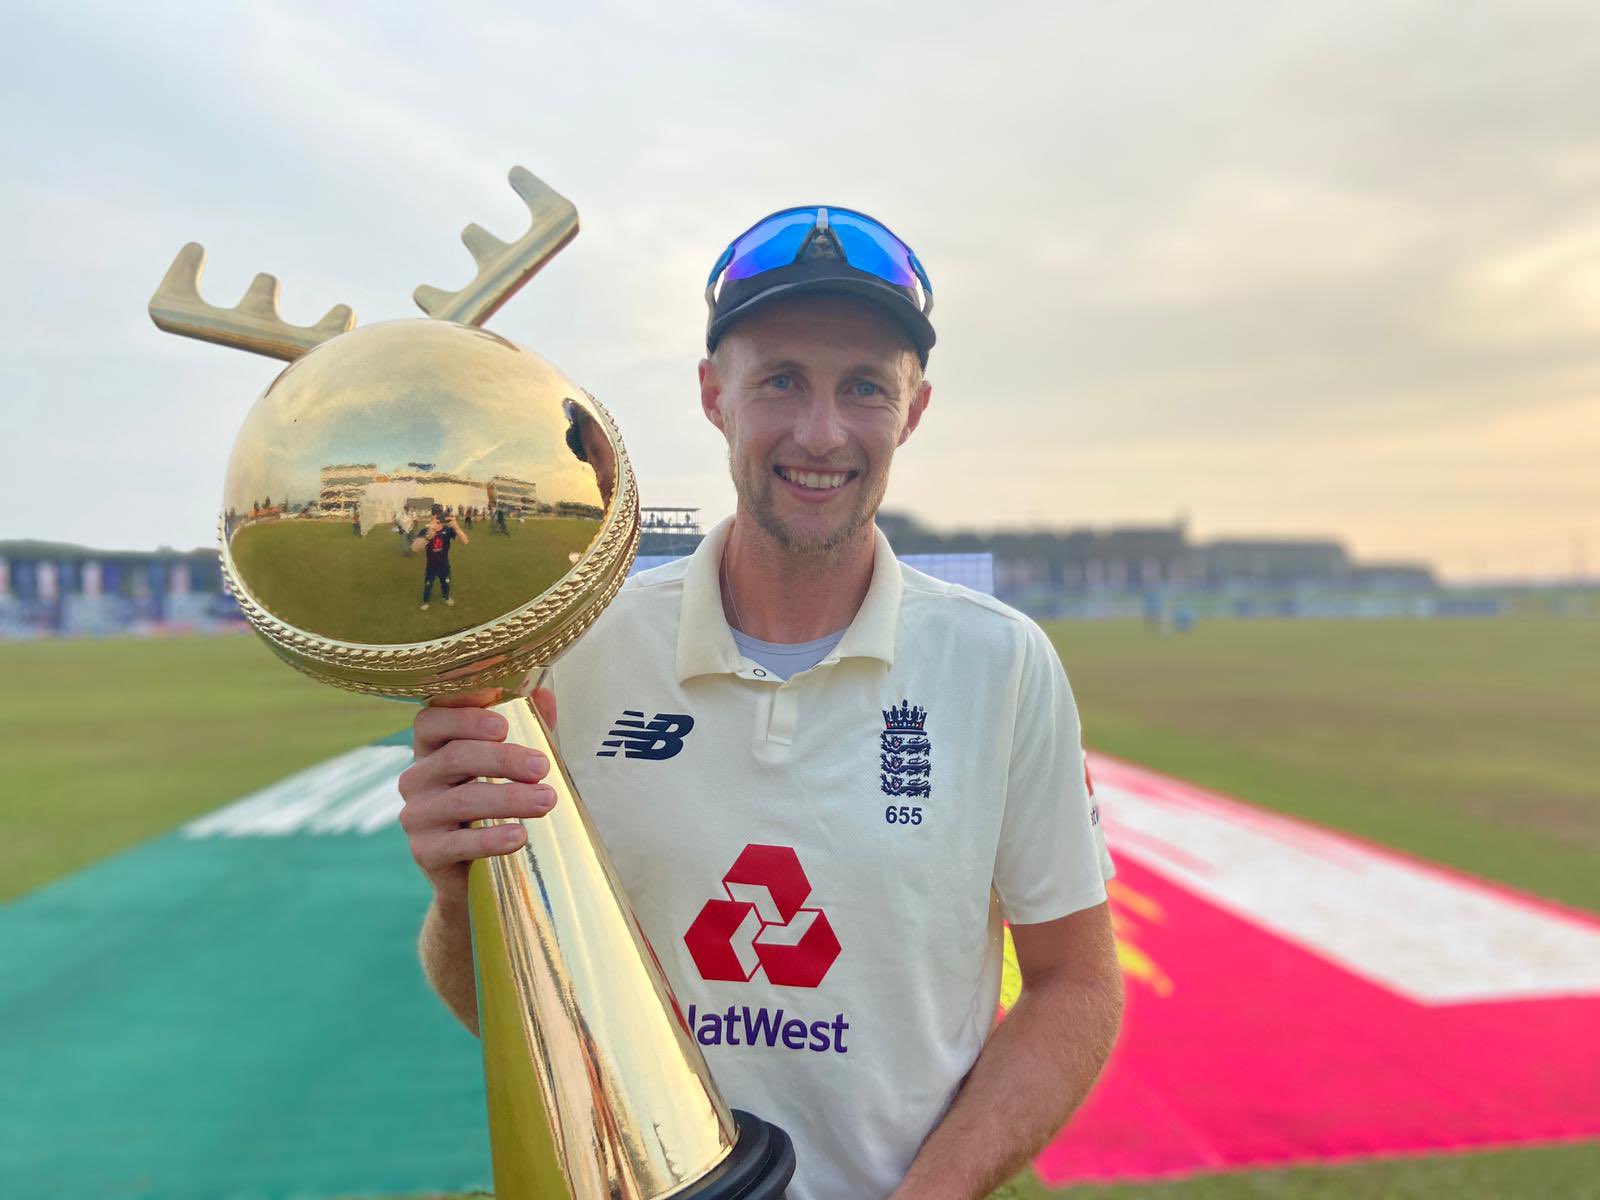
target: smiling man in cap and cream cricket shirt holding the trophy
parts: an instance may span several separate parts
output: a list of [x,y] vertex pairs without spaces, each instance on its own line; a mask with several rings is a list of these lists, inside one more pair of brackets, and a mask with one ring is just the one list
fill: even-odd
[[[1061,664],[1022,614],[898,563],[872,520],[928,408],[930,293],[859,213],[734,240],[699,365],[734,517],[632,579],[534,693],[725,1096],[794,1138],[790,1200],[987,1195],[1083,1099],[1120,1019]],[[435,890],[424,966],[469,1027],[467,862],[525,834],[461,821],[554,800],[502,736],[424,709],[400,782]],[[992,1029],[1002,917],[1022,994]]]

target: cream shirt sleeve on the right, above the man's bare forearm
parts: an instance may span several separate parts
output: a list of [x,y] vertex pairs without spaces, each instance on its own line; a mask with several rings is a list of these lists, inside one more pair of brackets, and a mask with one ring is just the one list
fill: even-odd
[[1067,674],[1032,621],[1014,712],[994,888],[1006,920],[1034,925],[1102,902],[1115,869],[1090,794]]

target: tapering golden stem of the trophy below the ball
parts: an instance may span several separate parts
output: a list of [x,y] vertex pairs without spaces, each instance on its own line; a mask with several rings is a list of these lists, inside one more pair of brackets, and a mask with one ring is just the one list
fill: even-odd
[[691,1195],[739,1157],[734,1115],[550,731],[525,698],[494,710],[509,742],[549,757],[557,792],[549,814],[522,822],[526,845],[474,862],[469,882],[494,1194]]

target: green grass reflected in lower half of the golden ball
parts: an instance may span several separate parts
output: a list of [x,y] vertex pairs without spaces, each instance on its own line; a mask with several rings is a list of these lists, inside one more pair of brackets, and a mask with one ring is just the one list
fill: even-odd
[[450,550],[451,598],[435,586],[421,611],[426,557],[390,528],[357,538],[344,522],[282,520],[234,534],[240,578],[275,616],[357,643],[427,642],[482,626],[533,600],[571,570],[598,525],[578,517],[509,522],[510,536],[477,522]]

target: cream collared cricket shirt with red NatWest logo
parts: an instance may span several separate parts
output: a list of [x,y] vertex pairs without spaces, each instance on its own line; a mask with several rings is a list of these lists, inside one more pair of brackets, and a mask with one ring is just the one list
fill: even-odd
[[790,1200],[888,1195],[994,1024],[1002,917],[1106,899],[1054,648],[877,534],[843,638],[787,682],[722,608],[731,520],[627,582],[550,670],[562,757]]

